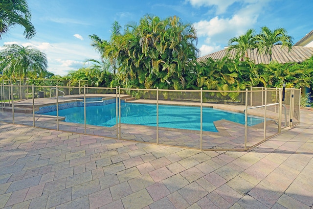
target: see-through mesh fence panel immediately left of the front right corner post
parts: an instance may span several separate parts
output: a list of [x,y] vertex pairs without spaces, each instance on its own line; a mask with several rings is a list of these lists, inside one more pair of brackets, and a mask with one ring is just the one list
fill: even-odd
[[243,149],[246,92],[203,91],[202,101],[202,149]]

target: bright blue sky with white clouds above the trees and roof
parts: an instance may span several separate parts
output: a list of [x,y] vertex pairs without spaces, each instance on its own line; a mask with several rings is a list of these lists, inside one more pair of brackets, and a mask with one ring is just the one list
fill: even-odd
[[145,14],[178,16],[197,29],[201,56],[219,51],[228,40],[253,28],[285,28],[296,43],[313,30],[312,0],[28,0],[37,34],[23,38],[16,26],[0,40],[45,52],[48,71],[66,75],[86,59],[99,59],[89,35],[110,39],[112,23],[138,23]]

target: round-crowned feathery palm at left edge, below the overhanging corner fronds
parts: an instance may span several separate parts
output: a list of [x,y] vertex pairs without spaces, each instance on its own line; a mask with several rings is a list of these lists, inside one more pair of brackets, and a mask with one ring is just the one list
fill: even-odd
[[45,53],[30,46],[4,45],[0,51],[0,70],[7,77],[44,78],[47,67]]

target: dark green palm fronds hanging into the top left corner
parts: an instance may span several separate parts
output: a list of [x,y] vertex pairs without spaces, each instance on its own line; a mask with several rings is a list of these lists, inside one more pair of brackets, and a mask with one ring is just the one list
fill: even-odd
[[24,36],[26,39],[32,38],[36,34],[36,30],[30,19],[31,14],[26,0],[1,0],[0,39],[15,25],[21,25],[25,28]]

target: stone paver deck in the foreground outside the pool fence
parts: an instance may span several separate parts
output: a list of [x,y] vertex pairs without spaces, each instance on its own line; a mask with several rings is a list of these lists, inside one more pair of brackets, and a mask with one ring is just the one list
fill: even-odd
[[0,208],[312,209],[313,111],[248,152],[0,123]]

